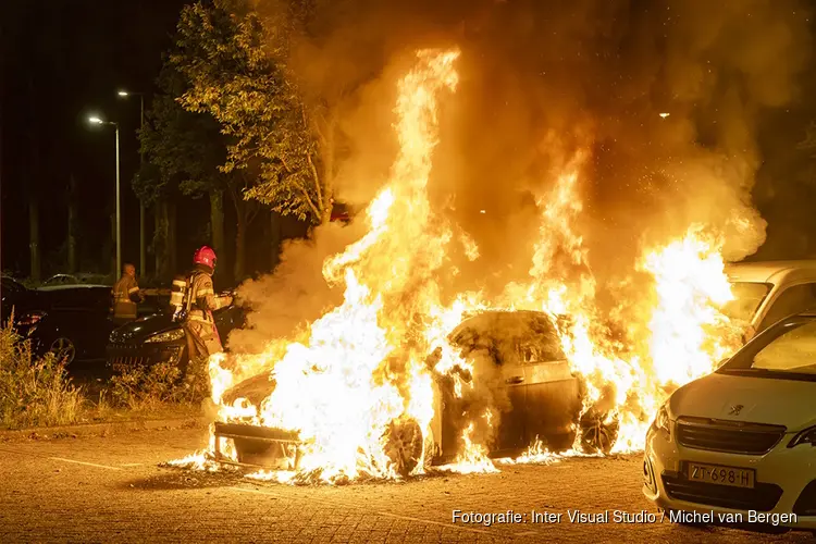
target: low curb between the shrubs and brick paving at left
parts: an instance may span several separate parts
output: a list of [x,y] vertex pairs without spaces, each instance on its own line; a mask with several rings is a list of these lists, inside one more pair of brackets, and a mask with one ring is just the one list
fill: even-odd
[[205,429],[211,422],[202,416],[188,416],[174,419],[148,419],[114,421],[108,423],[85,423],[78,425],[39,426],[34,429],[0,430],[0,442],[5,440],[49,440],[76,438],[79,436],[107,436],[121,432],[172,430],[172,429]]

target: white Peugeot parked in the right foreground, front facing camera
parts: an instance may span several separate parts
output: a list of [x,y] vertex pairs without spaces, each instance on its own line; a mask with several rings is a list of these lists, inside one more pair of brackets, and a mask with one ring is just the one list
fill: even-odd
[[670,521],[816,530],[816,312],[676,391],[646,434],[643,474]]

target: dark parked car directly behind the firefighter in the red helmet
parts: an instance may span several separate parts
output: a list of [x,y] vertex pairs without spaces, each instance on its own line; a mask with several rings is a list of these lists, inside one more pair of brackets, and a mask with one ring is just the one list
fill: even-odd
[[[213,312],[215,326],[222,341],[234,329],[244,326],[246,311],[228,306]],[[187,338],[180,323],[170,312],[156,313],[123,325],[110,334],[108,342],[109,366],[152,366],[171,362],[184,368],[187,364]]]

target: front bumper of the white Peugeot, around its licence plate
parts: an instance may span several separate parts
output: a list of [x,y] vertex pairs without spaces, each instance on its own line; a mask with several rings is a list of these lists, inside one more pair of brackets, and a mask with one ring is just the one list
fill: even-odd
[[[728,454],[684,447],[653,426],[646,435],[643,494],[664,510],[709,515],[704,521],[714,524],[728,521],[721,515],[739,514],[747,529],[816,529],[816,453],[809,446],[788,448],[792,437],[786,434],[765,455]],[[753,469],[755,489],[689,482],[689,461]]]

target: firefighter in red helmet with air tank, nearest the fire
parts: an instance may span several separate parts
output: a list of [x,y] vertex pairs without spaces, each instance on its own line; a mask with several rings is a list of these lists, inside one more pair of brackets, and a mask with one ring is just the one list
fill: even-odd
[[218,296],[213,290],[215,259],[215,251],[208,246],[196,250],[193,256],[195,268],[185,282],[183,308],[177,312],[184,320],[185,331],[193,344],[189,349],[190,359],[196,359],[197,362],[206,361],[210,355],[223,350],[212,311],[233,302],[232,296]]

